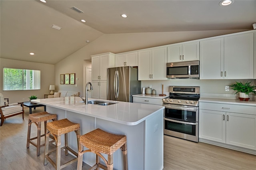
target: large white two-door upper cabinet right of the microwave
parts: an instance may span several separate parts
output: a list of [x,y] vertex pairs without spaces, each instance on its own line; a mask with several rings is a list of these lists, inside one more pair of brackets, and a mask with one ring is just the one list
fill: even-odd
[[253,79],[253,33],[200,41],[200,79]]

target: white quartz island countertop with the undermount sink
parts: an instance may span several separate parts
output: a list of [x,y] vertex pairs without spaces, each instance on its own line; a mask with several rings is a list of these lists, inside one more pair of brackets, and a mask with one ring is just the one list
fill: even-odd
[[[108,101],[101,99],[88,99],[88,101],[90,100]],[[82,99],[80,97],[58,97],[50,99],[36,99],[32,101],[46,105],[46,108],[47,106],[55,107],[65,111],[80,113],[124,125],[138,125],[154,114],[157,114],[158,111],[164,109],[161,105],[148,105],[122,101],[108,101],[116,104],[107,106],[92,104],[85,105],[82,103]]]

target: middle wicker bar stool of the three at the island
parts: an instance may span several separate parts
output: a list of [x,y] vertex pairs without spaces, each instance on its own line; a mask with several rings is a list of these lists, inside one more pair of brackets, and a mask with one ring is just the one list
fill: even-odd
[[[72,150],[68,146],[68,132],[74,131],[76,133],[77,137],[77,145],[79,144],[79,138],[80,138],[80,124],[79,123],[72,123],[68,119],[61,119],[54,122],[49,122],[46,124],[46,141],[45,141],[45,152],[44,152],[44,165],[47,164],[47,160],[54,166],[56,170],[60,170],[74,162],[77,161],[78,158],[74,158],[70,160],[69,162],[66,162],[65,164],[62,164],[60,166],[60,150],[65,148],[65,154],[68,155],[68,151],[70,151],[72,154],[78,157],[78,153]],[[56,141],[56,162],[54,162],[48,153],[48,147],[49,147],[49,136],[52,134],[54,136]],[[62,134],[65,134],[65,146],[61,147],[60,143],[60,136]],[[55,150],[54,150],[55,151]],[[54,152],[52,151],[52,152]]]

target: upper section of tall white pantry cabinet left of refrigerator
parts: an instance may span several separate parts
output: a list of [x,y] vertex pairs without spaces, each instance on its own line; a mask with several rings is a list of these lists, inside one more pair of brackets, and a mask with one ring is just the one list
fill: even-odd
[[92,81],[107,80],[107,68],[115,67],[113,53],[92,55]]

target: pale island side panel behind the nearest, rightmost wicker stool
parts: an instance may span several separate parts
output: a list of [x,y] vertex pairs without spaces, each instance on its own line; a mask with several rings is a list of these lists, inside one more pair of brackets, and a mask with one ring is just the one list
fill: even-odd
[[[96,128],[101,128],[113,134],[126,135],[127,159],[129,170],[145,170],[144,167],[144,121],[138,125],[122,125],[102,119],[96,119]],[[103,154],[107,158],[106,154]],[[114,152],[114,169],[123,169],[122,152],[118,149]]]

